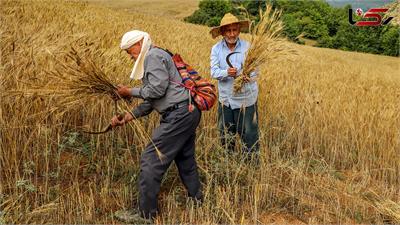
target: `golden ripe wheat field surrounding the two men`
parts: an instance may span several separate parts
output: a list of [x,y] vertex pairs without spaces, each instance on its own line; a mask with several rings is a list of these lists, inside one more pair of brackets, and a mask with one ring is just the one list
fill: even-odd
[[[109,123],[113,101],[61,104],[53,91],[72,92],[54,74],[68,75],[60,63],[73,66],[73,48],[114,84],[137,85],[119,41],[140,29],[209,77],[216,40],[170,16],[76,1],[0,4],[0,223],[120,223],[112,215],[137,200],[140,152],[159,116],[84,134],[78,128]],[[196,154],[205,201],[186,201],[171,166],[156,223],[400,223],[400,59],[290,46],[297,56],[260,72],[260,167],[228,155],[216,108],[204,112]]]

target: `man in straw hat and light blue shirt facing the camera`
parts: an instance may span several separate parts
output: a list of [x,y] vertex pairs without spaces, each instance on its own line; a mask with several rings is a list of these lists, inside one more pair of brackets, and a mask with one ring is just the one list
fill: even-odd
[[[233,92],[234,80],[240,74],[249,48],[249,43],[240,39],[239,34],[248,27],[248,21],[239,21],[234,15],[227,13],[222,18],[220,26],[211,29],[210,34],[213,38],[219,35],[223,37],[211,50],[211,76],[218,80],[218,128],[222,144],[232,152],[235,147],[234,136],[239,134],[243,142],[243,151],[258,153],[256,73],[253,72],[250,79],[245,79],[240,92]],[[230,57],[233,67],[230,67],[226,60],[230,53],[233,53]]]

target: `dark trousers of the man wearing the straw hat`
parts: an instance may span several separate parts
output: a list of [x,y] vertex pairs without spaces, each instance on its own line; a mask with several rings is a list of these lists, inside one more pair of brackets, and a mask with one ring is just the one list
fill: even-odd
[[259,129],[257,103],[245,108],[232,109],[218,104],[218,128],[222,145],[229,151],[235,148],[235,135],[239,134],[244,144],[243,151],[259,151]]

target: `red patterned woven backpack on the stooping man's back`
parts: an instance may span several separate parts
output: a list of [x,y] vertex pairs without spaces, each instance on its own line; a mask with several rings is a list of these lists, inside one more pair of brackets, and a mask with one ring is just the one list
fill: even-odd
[[[210,110],[217,101],[217,94],[215,86],[205,78],[202,78],[197,71],[190,65],[185,63],[179,54],[172,54],[168,50],[164,50],[171,55],[179,74],[182,77],[182,83],[177,83],[189,90],[193,101],[196,103],[197,108],[201,111]],[[171,81],[175,83],[174,81]],[[190,100],[189,100],[190,101]],[[191,104],[191,102],[189,102]],[[193,110],[190,107],[190,111]]]

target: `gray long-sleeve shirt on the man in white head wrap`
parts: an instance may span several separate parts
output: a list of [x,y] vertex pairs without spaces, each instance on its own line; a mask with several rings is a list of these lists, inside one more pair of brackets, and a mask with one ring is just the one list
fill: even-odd
[[134,117],[148,115],[155,109],[159,113],[189,99],[189,92],[179,83],[182,78],[171,56],[162,49],[150,47],[144,59],[141,87],[132,88],[132,96],[144,101],[132,110]]

